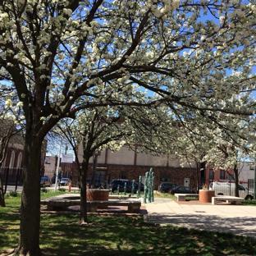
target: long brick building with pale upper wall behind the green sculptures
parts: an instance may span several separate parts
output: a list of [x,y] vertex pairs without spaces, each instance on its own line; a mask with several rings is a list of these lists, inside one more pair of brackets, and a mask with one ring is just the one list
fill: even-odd
[[[80,162],[82,160],[81,148],[79,148]],[[199,173],[196,165],[187,164],[181,167],[179,159],[173,155],[156,156],[149,153],[134,152],[128,147],[122,147],[118,152],[109,149],[103,150],[98,155],[97,166],[94,171],[94,183],[96,185],[109,184],[113,179],[128,179],[138,181],[139,176],[145,175],[149,168],[153,167],[155,189],[162,181],[170,181],[178,185],[190,186],[196,189],[199,184]],[[78,179],[74,164],[71,174],[72,181]],[[88,183],[92,181],[93,159],[89,160]]]

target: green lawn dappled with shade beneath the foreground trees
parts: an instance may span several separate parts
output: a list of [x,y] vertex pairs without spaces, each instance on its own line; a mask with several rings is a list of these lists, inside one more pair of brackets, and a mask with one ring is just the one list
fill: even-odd
[[[58,192],[58,194],[61,192]],[[43,198],[52,196],[44,193]],[[19,231],[20,197],[0,208],[0,251],[14,248]],[[43,214],[44,255],[255,255],[256,240],[243,236],[145,224],[142,217],[89,216],[79,226],[77,214]]]

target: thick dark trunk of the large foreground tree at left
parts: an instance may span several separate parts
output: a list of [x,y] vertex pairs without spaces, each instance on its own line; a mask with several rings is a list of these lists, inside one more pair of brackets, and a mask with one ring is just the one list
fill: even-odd
[[[28,124],[27,124],[28,126]],[[42,140],[26,127],[25,168],[21,195],[21,230],[18,251],[21,255],[40,255],[40,161]]]

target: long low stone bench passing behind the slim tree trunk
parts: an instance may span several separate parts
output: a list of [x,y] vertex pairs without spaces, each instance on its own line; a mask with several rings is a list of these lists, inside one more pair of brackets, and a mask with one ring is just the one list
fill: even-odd
[[[80,205],[80,199],[52,198],[42,200],[41,204],[47,205],[48,210],[65,210],[70,206]],[[128,213],[139,213],[141,202],[139,199],[110,199],[108,201],[88,201],[87,211],[89,213],[95,213],[98,208],[108,208],[108,206],[127,206]]]

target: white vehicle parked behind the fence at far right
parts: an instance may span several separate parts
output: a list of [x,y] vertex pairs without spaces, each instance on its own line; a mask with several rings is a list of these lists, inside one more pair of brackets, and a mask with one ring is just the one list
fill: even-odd
[[[209,185],[210,190],[214,190],[216,195],[232,195],[235,196],[235,183],[213,181]],[[245,190],[243,185],[238,185],[239,196],[245,200],[254,199],[252,190]]]

